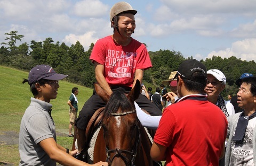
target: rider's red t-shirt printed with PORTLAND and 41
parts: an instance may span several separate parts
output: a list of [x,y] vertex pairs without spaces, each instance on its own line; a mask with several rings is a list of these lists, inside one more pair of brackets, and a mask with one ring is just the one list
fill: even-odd
[[132,87],[136,69],[152,67],[146,46],[133,38],[127,46],[118,45],[111,36],[99,39],[90,59],[105,66],[104,76],[109,86]]

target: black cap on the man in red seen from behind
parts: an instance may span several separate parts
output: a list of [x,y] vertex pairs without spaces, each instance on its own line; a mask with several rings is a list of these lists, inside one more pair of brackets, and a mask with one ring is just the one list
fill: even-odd
[[[192,74],[196,71],[201,71],[204,75],[205,80],[207,79],[205,65],[196,59],[188,59],[180,64],[177,74],[174,76],[174,78],[176,78],[176,77],[178,77],[178,75],[180,75],[181,78],[191,80]],[[196,80],[191,80],[191,81],[196,82]]]

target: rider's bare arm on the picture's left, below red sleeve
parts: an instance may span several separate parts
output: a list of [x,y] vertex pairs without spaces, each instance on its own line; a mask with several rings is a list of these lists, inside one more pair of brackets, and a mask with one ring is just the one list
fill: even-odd
[[104,65],[99,64],[98,62],[94,62],[94,68],[95,68],[95,78],[98,82],[98,84],[101,86],[103,90],[106,91],[107,94],[111,95],[112,90],[110,89],[108,82],[106,81],[106,78],[104,76]]

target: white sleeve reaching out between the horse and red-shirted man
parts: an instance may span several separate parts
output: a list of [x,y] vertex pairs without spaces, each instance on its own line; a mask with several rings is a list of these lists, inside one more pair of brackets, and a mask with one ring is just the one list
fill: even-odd
[[141,110],[136,102],[134,102],[135,108],[137,111],[137,117],[140,120],[142,126],[150,128],[150,129],[157,129],[159,125],[159,121],[162,116],[151,116]]

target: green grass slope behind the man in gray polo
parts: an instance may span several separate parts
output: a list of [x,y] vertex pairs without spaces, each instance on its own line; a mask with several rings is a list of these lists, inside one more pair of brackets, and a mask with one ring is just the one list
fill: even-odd
[[[19,133],[21,118],[29,106],[30,97],[33,97],[28,83],[21,83],[22,78],[27,77],[28,72],[0,66],[0,101],[2,105],[2,109],[0,109],[0,134],[6,131]],[[68,135],[69,106],[67,101],[71,94],[71,89],[74,86],[79,89],[77,95],[78,109],[81,109],[84,102],[90,98],[92,89],[72,84],[65,80],[60,81],[59,85],[58,97],[51,101],[53,104],[52,117],[56,125],[56,131]],[[71,148],[73,139],[68,136],[57,136],[57,142],[63,147]],[[0,165],[3,165],[3,163],[19,165],[18,144],[5,145],[0,140],[0,146]]]

